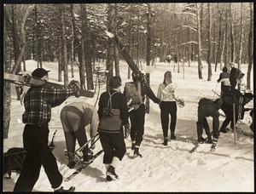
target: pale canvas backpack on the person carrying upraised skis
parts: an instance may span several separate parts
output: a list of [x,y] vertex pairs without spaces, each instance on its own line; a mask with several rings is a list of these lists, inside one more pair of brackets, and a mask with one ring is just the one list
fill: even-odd
[[137,110],[143,103],[141,83],[139,81],[125,83],[125,96],[127,101],[131,100],[130,106],[134,108],[133,110]]

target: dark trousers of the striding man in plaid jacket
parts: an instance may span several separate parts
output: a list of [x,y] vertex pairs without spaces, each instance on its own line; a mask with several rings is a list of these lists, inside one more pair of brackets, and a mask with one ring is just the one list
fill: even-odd
[[32,191],[42,165],[51,187],[55,189],[61,185],[63,177],[59,172],[55,156],[49,150],[48,135],[48,125],[39,127],[26,124],[23,132],[26,157],[14,191]]

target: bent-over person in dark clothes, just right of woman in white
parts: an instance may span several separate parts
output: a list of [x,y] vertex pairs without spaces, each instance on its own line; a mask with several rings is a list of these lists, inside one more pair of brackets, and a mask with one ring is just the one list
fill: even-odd
[[[198,106],[198,112],[197,112],[198,121],[196,123],[198,143],[203,143],[204,141],[206,141],[206,139],[202,137],[203,128],[205,129],[207,134],[207,143],[209,144],[217,143],[218,136],[219,136],[218,110],[220,109],[222,102],[223,102],[222,99],[217,99],[215,101],[212,101],[207,98],[202,98],[201,100],[199,100],[198,102],[199,106]],[[212,135],[211,135],[209,125],[207,123],[207,117],[212,117],[213,140],[212,140]]]

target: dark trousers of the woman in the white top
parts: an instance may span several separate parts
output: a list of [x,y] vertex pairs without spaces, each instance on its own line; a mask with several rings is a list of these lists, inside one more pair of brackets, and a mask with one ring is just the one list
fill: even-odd
[[171,115],[171,134],[175,133],[177,123],[177,103],[176,101],[162,101],[160,103],[160,117],[164,138],[168,137],[169,115]]

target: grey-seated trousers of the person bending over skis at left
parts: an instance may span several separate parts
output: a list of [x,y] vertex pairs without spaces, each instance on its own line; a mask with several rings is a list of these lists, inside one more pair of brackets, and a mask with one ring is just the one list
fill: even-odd
[[[84,114],[75,106],[64,106],[61,110],[61,123],[64,130],[67,151],[75,151],[76,140],[83,146],[88,140],[85,133]],[[83,150],[88,153],[88,145]]]

